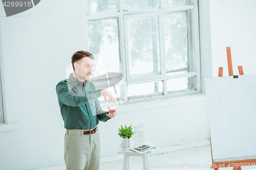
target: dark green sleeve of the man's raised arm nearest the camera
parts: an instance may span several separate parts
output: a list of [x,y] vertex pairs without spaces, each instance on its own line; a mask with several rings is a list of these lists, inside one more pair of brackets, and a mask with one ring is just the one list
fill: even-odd
[[58,100],[67,106],[81,106],[88,104],[90,99],[97,99],[101,96],[100,90],[95,90],[92,92],[83,92],[81,94],[76,94],[73,92],[71,87],[68,87],[67,83],[61,81],[56,85],[56,92]]

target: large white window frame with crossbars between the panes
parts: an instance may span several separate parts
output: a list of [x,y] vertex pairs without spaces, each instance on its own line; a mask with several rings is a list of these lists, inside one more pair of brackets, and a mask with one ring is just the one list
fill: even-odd
[[[179,96],[186,94],[198,94],[201,93],[201,67],[200,67],[200,43],[199,43],[199,13],[198,13],[198,0],[187,0],[186,6],[173,6],[173,7],[164,7],[164,0],[160,0],[160,8],[157,9],[146,9],[139,11],[123,11],[123,2],[122,0],[118,1],[118,10],[119,12],[110,12],[110,13],[102,13],[102,14],[94,14],[86,16],[86,45],[89,47],[89,38],[88,38],[88,22],[90,20],[98,20],[98,19],[109,19],[109,18],[117,18],[118,19],[118,30],[119,30],[119,51],[120,51],[120,62],[122,64],[122,72],[124,81],[119,82],[116,86],[122,86],[122,100],[126,101],[126,103],[137,103],[137,99],[132,99],[128,101],[127,98],[127,85],[128,84],[136,84],[136,83],[144,83],[144,82],[155,82],[162,81],[163,82],[163,94],[164,99],[169,98],[167,96],[167,88],[166,81],[168,79],[175,78],[186,78],[195,76],[195,90],[188,91],[180,91],[178,92]],[[87,5],[87,4],[86,4]],[[193,71],[184,73],[184,74],[176,74],[176,75],[166,75],[166,67],[165,63],[165,52],[164,52],[164,14],[173,13],[173,12],[187,12],[187,34],[188,34],[188,62],[189,67],[193,66]],[[129,78],[129,69],[127,68],[127,64],[129,64],[129,59],[127,57],[127,51],[125,48],[125,39],[127,39],[127,33],[125,31],[126,22],[125,19],[132,17],[143,17],[143,16],[158,16],[158,24],[159,24],[159,50],[160,50],[160,74],[154,76],[140,77],[140,78]],[[126,38],[125,38],[126,37]],[[126,55],[126,56],[125,56]],[[170,97],[172,97],[171,95]],[[161,98],[162,99],[162,98]],[[141,100],[140,100],[141,101]],[[147,100],[148,101],[148,100]]]

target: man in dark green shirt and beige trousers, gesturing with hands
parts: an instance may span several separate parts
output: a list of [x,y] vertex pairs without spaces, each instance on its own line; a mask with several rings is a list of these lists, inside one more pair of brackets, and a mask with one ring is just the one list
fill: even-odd
[[116,102],[113,95],[104,89],[95,89],[89,81],[94,57],[89,52],[78,51],[72,56],[74,74],[56,85],[62,119],[64,121],[65,153],[67,170],[99,169],[100,131],[99,121],[114,118],[116,110],[103,111],[98,98],[101,94]]

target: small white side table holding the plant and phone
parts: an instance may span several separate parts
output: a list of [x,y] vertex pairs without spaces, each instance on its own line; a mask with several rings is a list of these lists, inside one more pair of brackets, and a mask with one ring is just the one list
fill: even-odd
[[[154,142],[150,141],[144,141],[142,144],[151,144],[153,145]],[[139,144],[141,145],[141,144]],[[143,154],[137,153],[135,151],[130,150],[130,148],[135,148],[137,146],[139,146],[138,144],[131,144],[130,147],[127,147],[126,150],[122,150],[122,145],[120,143],[119,148],[117,150],[118,154],[124,154],[124,158],[123,158],[123,170],[128,170],[129,169],[129,157],[130,156],[141,156],[142,157],[142,163],[143,163],[143,170],[150,170],[150,160],[148,159],[148,154],[151,154],[152,152],[146,152]]]

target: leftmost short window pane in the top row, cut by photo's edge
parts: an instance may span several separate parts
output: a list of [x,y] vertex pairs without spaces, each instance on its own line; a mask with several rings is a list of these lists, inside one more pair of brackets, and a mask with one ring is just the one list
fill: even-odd
[[118,11],[118,0],[88,0],[87,14],[99,14]]

